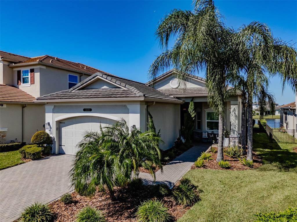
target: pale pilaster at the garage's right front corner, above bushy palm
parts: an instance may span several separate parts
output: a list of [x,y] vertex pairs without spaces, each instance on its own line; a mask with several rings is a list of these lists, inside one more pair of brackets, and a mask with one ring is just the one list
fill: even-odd
[[133,126],[140,128],[141,132],[146,131],[146,105],[127,104],[129,108],[129,129]]

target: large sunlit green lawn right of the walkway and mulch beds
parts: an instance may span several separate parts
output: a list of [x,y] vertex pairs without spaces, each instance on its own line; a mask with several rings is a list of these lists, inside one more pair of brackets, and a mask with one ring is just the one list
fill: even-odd
[[254,130],[254,150],[263,166],[254,170],[190,170],[185,177],[200,189],[201,200],[178,222],[254,221],[258,212],[297,207],[296,145],[269,143]]

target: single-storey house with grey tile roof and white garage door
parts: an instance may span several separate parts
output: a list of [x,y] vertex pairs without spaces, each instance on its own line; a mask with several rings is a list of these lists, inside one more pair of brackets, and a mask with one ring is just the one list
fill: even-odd
[[[53,152],[75,154],[77,143],[86,130],[126,120],[129,127],[147,129],[148,112],[155,127],[161,130],[166,150],[180,136],[184,114],[191,99],[195,105],[195,137],[202,132],[218,133],[218,117],[208,106],[205,80],[189,76],[185,89],[170,70],[146,84],[98,71],[69,90],[40,96],[36,103],[45,104],[46,132],[53,137]],[[238,142],[241,126],[241,98],[235,95],[226,101],[225,127],[231,140]]]

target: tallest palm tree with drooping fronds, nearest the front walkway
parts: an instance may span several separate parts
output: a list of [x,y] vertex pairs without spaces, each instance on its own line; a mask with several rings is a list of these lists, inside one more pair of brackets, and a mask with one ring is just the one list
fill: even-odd
[[[150,79],[155,79],[165,69],[179,70],[178,79],[184,84],[189,75],[206,70],[206,87],[209,105],[219,115],[219,142],[217,161],[223,159],[223,124],[225,113],[226,78],[234,73],[233,30],[222,23],[212,0],[196,1],[195,10],[174,9],[166,15],[157,28],[156,35],[165,51],[151,64]],[[176,37],[168,49],[170,37]]]

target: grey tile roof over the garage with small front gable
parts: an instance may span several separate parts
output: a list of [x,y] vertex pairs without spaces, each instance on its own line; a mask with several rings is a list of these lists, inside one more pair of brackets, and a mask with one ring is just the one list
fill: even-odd
[[[94,90],[80,89],[96,81],[97,78],[104,79],[107,82],[117,84],[119,88],[101,88]],[[165,93],[160,92],[152,87],[149,87],[146,84],[101,72],[93,74],[92,76],[78,83],[69,90],[44,95],[42,97],[38,97],[37,100],[59,100],[80,98],[147,98],[152,100],[167,100],[168,102],[182,102],[181,100],[166,95]]]

